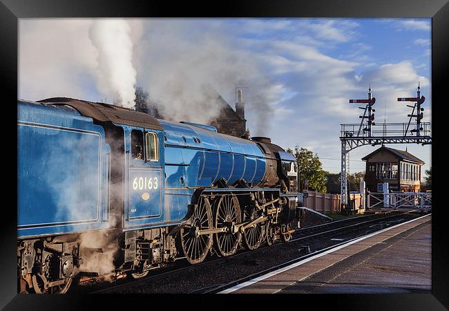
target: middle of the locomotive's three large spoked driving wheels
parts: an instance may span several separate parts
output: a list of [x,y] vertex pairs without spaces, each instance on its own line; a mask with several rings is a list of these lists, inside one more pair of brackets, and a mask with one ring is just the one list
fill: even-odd
[[232,225],[240,223],[240,205],[235,195],[222,196],[214,210],[214,225],[216,228],[229,227],[229,232],[220,232],[214,235],[216,250],[220,256],[231,256],[237,252],[242,235],[240,232],[232,233]]

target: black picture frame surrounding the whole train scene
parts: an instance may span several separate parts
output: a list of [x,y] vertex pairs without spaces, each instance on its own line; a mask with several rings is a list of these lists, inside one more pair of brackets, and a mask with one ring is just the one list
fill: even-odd
[[[436,151],[443,148],[442,122],[439,118],[447,106],[446,81],[448,77],[449,3],[447,0],[283,0],[283,1],[220,1],[201,3],[183,1],[108,1],[108,0],[0,0],[0,53],[3,66],[2,80],[3,138],[12,138],[17,144],[17,57],[18,19],[44,17],[430,17],[432,18],[432,183],[443,180],[441,161]],[[5,114],[6,113],[6,114]],[[6,130],[8,129],[8,130]],[[237,295],[182,296],[171,299],[167,295],[17,295],[17,148],[6,142],[3,147],[3,168],[11,169],[11,175],[3,169],[3,217],[0,226],[2,270],[0,307],[5,310],[80,310],[108,307],[117,308],[195,308],[215,309],[217,306],[236,308]],[[12,152],[11,152],[12,150]],[[12,153],[12,154],[11,154]],[[7,162],[6,162],[7,161]],[[437,180],[437,182],[435,182]],[[449,256],[448,226],[444,215],[441,192],[434,191],[432,211],[432,294],[333,294],[333,295],[272,295],[239,296],[237,301],[245,305],[266,305],[267,299],[273,308],[319,308],[328,303],[332,309],[344,310],[444,310],[449,308]],[[10,200],[12,199],[12,200]],[[220,301],[223,301],[221,303]],[[206,302],[207,301],[207,302]],[[204,302],[204,303],[202,303]],[[225,303],[229,303],[226,305]],[[288,303],[288,304],[286,304]],[[106,305],[108,306],[106,306]],[[94,307],[95,305],[95,307]],[[275,307],[277,305],[277,307]],[[309,305],[309,307],[307,306]],[[146,307],[145,307],[146,306]],[[228,306],[228,307],[227,307]]]

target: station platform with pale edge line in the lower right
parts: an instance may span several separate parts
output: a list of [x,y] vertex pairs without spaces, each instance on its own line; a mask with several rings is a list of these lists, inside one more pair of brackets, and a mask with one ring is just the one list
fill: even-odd
[[431,220],[385,228],[221,293],[430,293]]

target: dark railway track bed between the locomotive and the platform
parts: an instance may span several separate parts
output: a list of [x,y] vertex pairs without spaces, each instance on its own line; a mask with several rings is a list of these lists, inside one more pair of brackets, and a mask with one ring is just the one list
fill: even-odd
[[[288,265],[294,261],[303,260],[317,254],[317,252],[325,252],[325,249],[329,247],[347,243],[352,238],[359,238],[364,234],[410,220],[413,217],[410,213],[382,213],[336,220],[331,223],[297,229],[292,239],[287,243],[274,243],[274,245],[259,247],[254,251],[240,251],[233,256],[225,258],[210,258],[197,265],[190,265],[181,261],[171,267],[155,270],[153,274],[142,279],[120,280],[113,285],[104,283],[90,289],[83,289],[83,286],[79,285],[72,292],[95,294],[110,292],[160,292],[160,290],[164,292],[163,288],[158,287],[157,284],[165,285],[166,288],[171,290],[176,289],[166,292],[178,292],[178,290],[179,292],[187,293],[219,292],[233,283],[240,283],[249,277],[256,277],[257,274],[267,273],[275,268],[278,269],[281,265]],[[308,254],[309,252],[313,254]],[[280,258],[274,258],[279,255],[281,255]],[[269,261],[269,263],[266,263],[266,261]],[[242,269],[236,269],[239,265]],[[237,270],[240,273],[231,273],[231,275],[223,277],[220,274],[220,268],[223,268],[223,266],[228,266],[224,267],[227,272],[236,272]],[[213,276],[207,273],[208,271],[218,275]],[[235,274],[235,276],[232,274]],[[209,279],[204,279],[205,277]],[[167,281],[164,282],[164,280]],[[176,285],[176,282],[180,284]],[[184,286],[185,283],[189,283],[189,285]],[[149,288],[149,285],[154,286]],[[167,287],[167,285],[169,286]]]

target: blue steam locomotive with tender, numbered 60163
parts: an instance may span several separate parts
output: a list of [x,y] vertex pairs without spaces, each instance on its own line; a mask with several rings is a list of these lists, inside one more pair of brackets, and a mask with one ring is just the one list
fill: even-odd
[[269,138],[65,97],[17,109],[19,292],[291,238],[298,169]]

